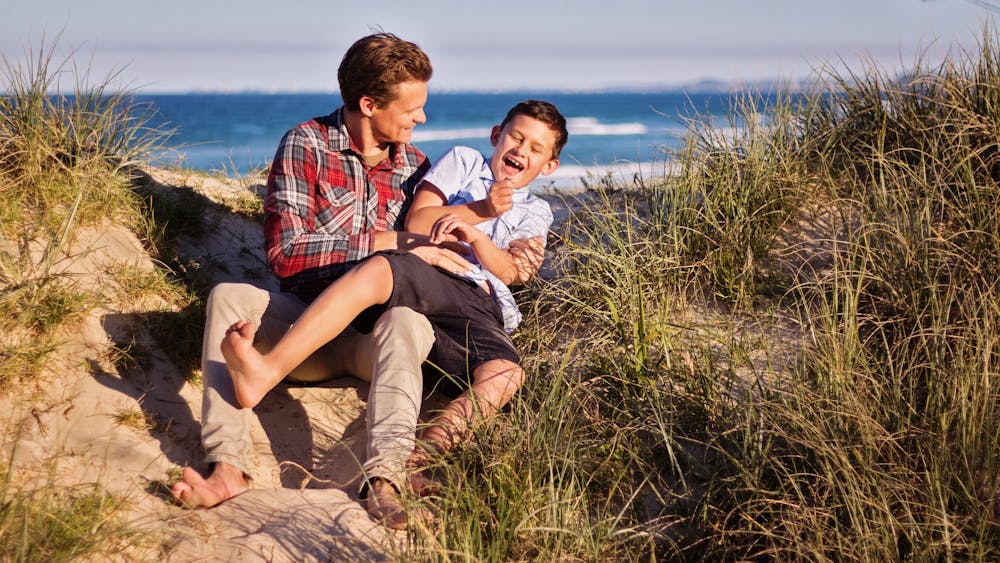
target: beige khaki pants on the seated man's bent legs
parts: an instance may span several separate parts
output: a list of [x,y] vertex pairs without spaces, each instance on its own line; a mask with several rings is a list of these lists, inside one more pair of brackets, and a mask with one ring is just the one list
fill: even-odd
[[[201,368],[204,379],[202,444],[206,461],[222,461],[253,477],[250,409],[236,403],[220,345],[226,329],[246,320],[260,328],[254,347],[266,352],[306,308],[298,298],[249,284],[223,283],[208,297]],[[383,314],[370,334],[338,338],[302,362],[288,378],[318,382],[353,375],[371,382],[368,394],[366,478],[406,483],[423,393],[420,366],[434,343],[423,315],[397,307]]]

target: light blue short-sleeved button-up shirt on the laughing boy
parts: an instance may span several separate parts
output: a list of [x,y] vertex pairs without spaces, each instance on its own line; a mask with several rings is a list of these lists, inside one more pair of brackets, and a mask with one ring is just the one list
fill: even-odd
[[[469,147],[455,147],[448,151],[424,176],[447,199],[447,205],[461,205],[486,199],[493,185],[490,163],[479,151]],[[542,237],[552,225],[552,210],[544,199],[533,195],[527,187],[514,190],[514,205],[506,213],[477,224],[475,227],[490,237],[499,248],[507,248],[510,241],[520,238]],[[471,248],[469,249],[471,254]],[[465,277],[476,283],[489,282],[493,299],[503,313],[504,330],[513,332],[521,323],[521,312],[514,296],[499,278],[484,268],[473,255],[470,260],[476,268]]]

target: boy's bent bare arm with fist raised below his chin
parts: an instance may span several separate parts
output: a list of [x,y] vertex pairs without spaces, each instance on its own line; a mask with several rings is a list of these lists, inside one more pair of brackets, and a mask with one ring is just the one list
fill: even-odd
[[499,217],[514,205],[514,188],[507,180],[494,182],[486,199],[445,206],[448,199],[434,184],[423,181],[417,186],[410,211],[406,214],[406,230],[429,233],[434,222],[446,213],[456,215],[470,225]]

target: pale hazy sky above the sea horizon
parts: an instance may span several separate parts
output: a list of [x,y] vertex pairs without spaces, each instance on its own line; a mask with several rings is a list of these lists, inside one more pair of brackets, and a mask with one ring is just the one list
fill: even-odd
[[[144,92],[335,92],[375,30],[420,45],[432,91],[657,90],[905,69],[975,49],[978,0],[4,0],[0,55],[44,49]],[[72,82],[72,81],[71,81]],[[72,83],[69,84],[72,86]]]

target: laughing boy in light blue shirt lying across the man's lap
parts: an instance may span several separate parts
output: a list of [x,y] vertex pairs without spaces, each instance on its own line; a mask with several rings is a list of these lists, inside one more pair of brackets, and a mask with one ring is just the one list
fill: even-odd
[[[448,450],[477,414],[495,413],[524,378],[508,336],[520,314],[507,285],[520,276],[517,260],[505,247],[518,238],[544,240],[552,213],[545,201],[523,188],[540,174],[555,171],[567,136],[566,121],[555,106],[521,102],[493,128],[489,160],[473,149],[457,147],[418,185],[406,228],[429,232],[433,243],[460,243],[470,249],[478,267],[464,275],[429,266],[408,252],[378,252],[323,291],[265,355],[252,346],[252,323],[233,324],[222,352],[239,404],[256,405],[352,320],[364,331],[385,309],[402,306],[431,321],[436,343],[430,362],[449,374],[472,371],[470,388],[438,416],[432,427],[436,432],[424,433],[428,446]],[[477,403],[483,396],[499,400]]]

